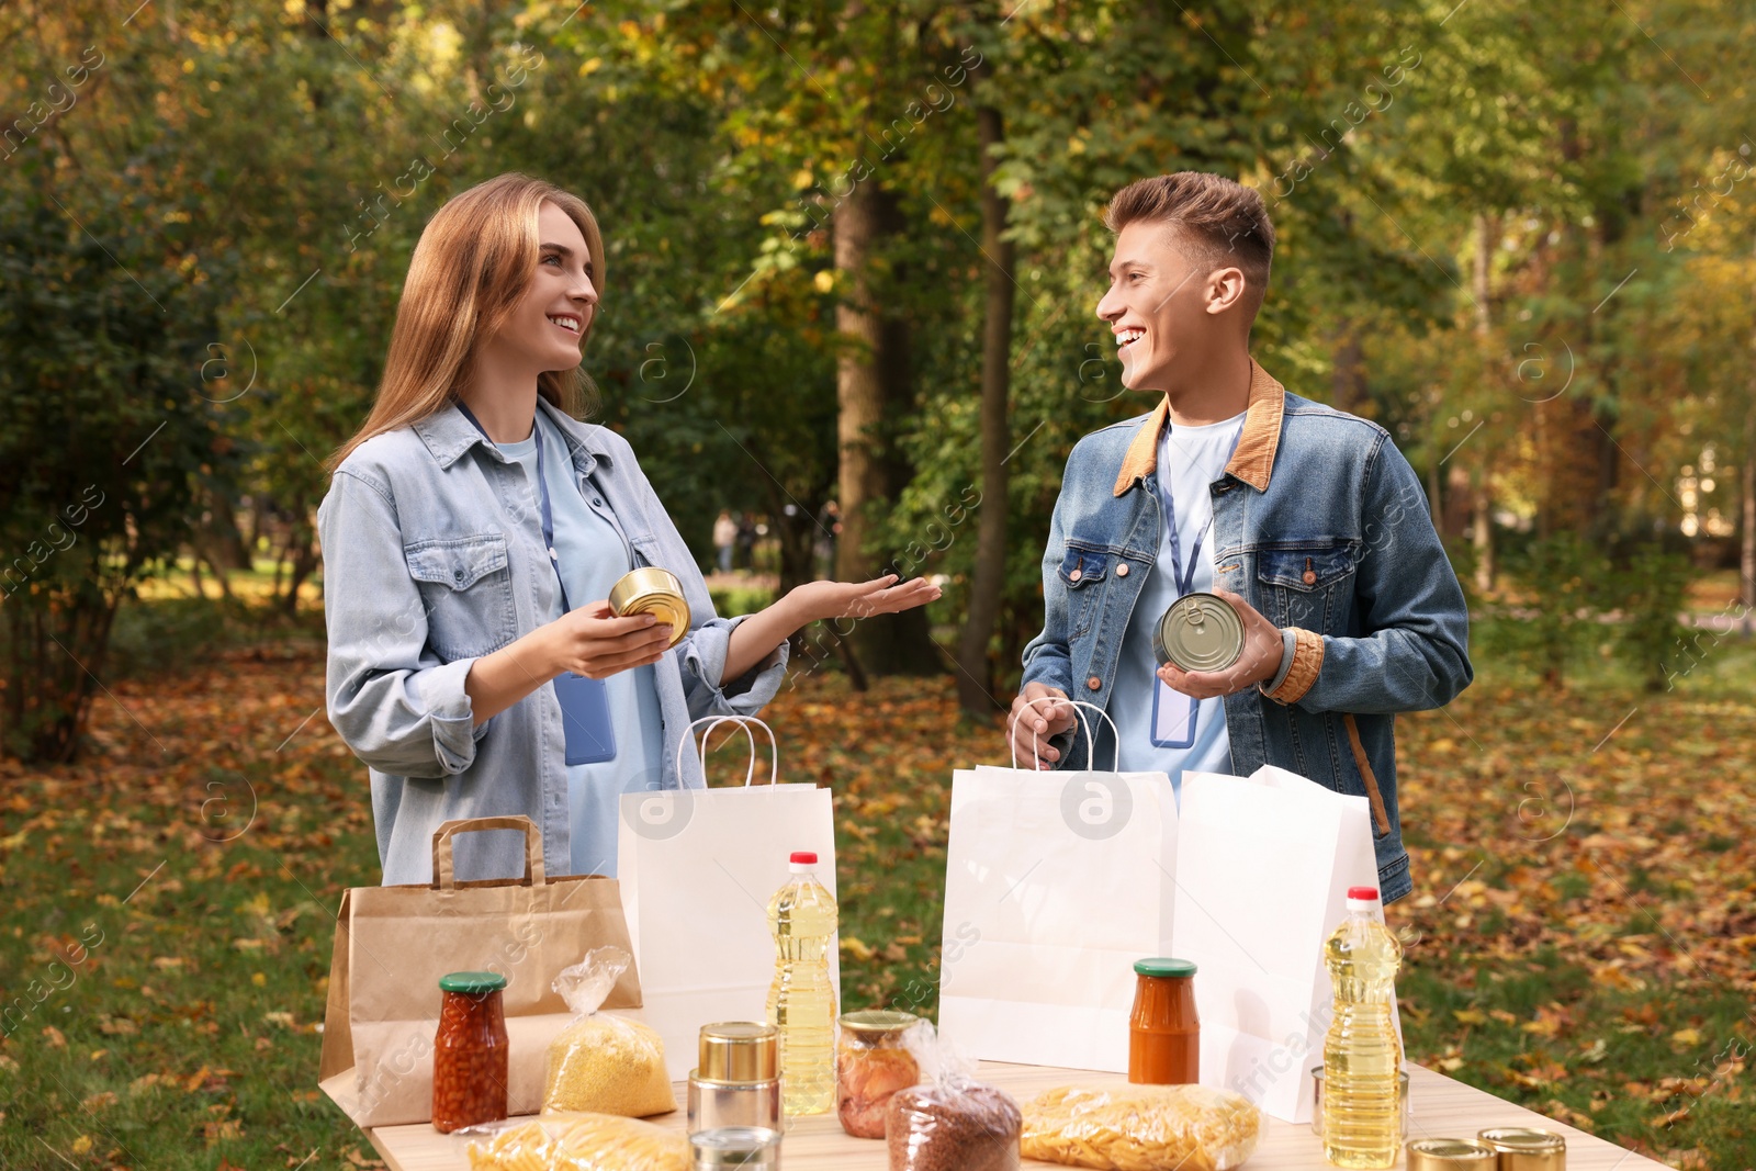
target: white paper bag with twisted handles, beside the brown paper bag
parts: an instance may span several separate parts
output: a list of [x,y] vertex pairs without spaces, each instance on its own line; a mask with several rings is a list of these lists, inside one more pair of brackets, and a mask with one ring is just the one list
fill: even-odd
[[[709,716],[702,744],[720,723],[760,720]],[[755,737],[743,787],[629,794],[622,797],[616,867],[622,906],[641,974],[643,1018],[664,1039],[673,1080],[695,1067],[701,1025],[766,1020],[774,978],[767,901],[790,878],[795,850],[817,851],[817,878],[836,892],[836,827],[831,794],[817,785],[780,785],[774,750],[769,785],[752,785]],[[680,750],[681,751],[681,750]],[[841,967],[831,941],[831,987]],[[838,1001],[839,1004],[839,1001]]]

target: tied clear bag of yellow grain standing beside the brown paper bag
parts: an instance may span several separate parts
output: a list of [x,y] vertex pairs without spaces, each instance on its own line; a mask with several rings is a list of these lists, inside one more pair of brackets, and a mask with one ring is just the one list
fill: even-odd
[[637,1020],[597,1011],[632,959],[622,948],[597,948],[555,978],[555,992],[579,1018],[550,1041],[543,1113],[588,1110],[641,1118],[676,1110],[658,1034]]

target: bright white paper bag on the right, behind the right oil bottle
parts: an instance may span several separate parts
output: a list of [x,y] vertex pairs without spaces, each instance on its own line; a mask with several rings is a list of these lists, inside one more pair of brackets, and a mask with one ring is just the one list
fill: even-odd
[[1184,774],[1171,941],[1199,967],[1201,1081],[1277,1118],[1310,1120],[1331,1017],[1322,946],[1347,888],[1378,885],[1370,818],[1364,797],[1273,765]]

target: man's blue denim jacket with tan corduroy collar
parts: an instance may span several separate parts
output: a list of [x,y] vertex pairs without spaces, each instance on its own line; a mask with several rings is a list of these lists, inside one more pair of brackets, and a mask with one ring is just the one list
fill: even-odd
[[[1301,399],[1254,360],[1238,449],[1213,481],[1213,569],[1294,636],[1282,683],[1226,697],[1233,771],[1275,764],[1371,806],[1385,902],[1412,888],[1396,809],[1396,713],[1443,708],[1475,678],[1463,588],[1408,462],[1377,423]],[[1024,681],[1108,708],[1122,636],[1159,550],[1168,404],[1082,439],[1043,553],[1043,632]],[[1133,565],[1133,571],[1122,571]],[[1103,722],[1096,722],[1103,723]],[[1098,732],[1103,765],[1115,737]],[[1085,737],[1055,739],[1085,769]]]

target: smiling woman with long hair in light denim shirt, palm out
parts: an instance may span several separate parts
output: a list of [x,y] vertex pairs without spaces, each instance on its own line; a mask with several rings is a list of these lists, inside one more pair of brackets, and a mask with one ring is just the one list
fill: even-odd
[[[615,874],[622,794],[699,788],[690,720],[753,715],[787,639],[896,613],[922,579],[815,581],[716,618],[634,451],[579,423],[604,242],[579,198],[506,174],[446,202],[402,286],[378,400],[318,509],[330,723],[369,765],[385,883],[432,881],[446,820],[523,813],[550,874]],[[637,565],[683,583],[688,636],[616,618]],[[465,834],[457,876],[523,873],[509,830]]]

